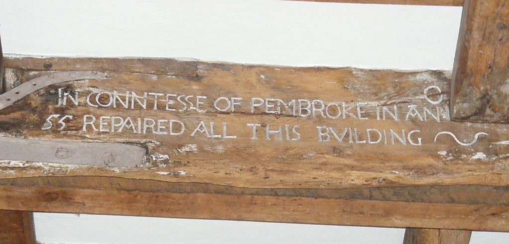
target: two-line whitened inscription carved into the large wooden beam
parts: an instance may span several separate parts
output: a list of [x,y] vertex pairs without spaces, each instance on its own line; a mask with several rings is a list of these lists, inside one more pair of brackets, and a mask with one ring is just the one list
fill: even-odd
[[[379,102],[327,102],[320,99],[277,99],[277,98],[242,98],[219,97],[210,98],[199,95],[164,94],[151,92],[91,92],[81,95],[79,92],[66,88],[58,89],[58,106],[89,106],[93,108],[119,108],[126,110],[160,110],[169,113],[251,113],[267,115],[283,115],[292,117],[316,118],[331,120],[393,120],[393,121],[422,121],[440,123],[449,121],[447,106],[443,106],[444,95],[439,86],[431,85],[422,91],[418,99],[425,100],[426,105],[398,106]],[[430,96],[435,94],[435,96]],[[438,94],[438,96],[436,96]],[[83,96],[83,99],[80,99]],[[80,103],[81,101],[81,103]],[[246,110],[247,108],[247,110]],[[46,119],[41,128],[48,130],[53,127],[52,120],[58,120],[58,130],[64,130],[65,121],[72,120],[73,115],[52,114]],[[205,136],[218,139],[237,139],[238,136],[229,131],[229,123],[214,121],[199,121],[189,125],[177,119],[159,119],[154,117],[132,116],[101,116],[87,114],[80,118],[83,132],[134,133],[165,136]],[[287,140],[299,141],[301,125],[264,125],[260,123],[246,123],[251,140]],[[188,132],[186,135],[185,132]],[[464,143],[451,132],[442,131],[434,138],[422,138],[421,131],[393,129],[393,128],[365,128],[317,126],[316,139],[322,143],[355,143],[355,144],[383,144],[421,146],[422,143],[434,143],[440,135],[451,135],[460,145],[474,144],[479,135],[489,136],[479,132],[475,138]]]

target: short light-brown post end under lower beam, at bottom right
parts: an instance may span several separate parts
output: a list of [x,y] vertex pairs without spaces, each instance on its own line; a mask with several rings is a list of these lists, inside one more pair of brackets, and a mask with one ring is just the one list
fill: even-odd
[[407,228],[403,244],[468,244],[469,230]]

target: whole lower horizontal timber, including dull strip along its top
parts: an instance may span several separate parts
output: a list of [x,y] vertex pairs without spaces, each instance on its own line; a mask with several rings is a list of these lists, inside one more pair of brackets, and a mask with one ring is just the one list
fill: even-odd
[[43,212],[501,231],[507,226],[503,224],[505,211],[509,209],[507,192],[506,188],[486,186],[250,189],[119,177],[49,176],[0,180],[0,207]]

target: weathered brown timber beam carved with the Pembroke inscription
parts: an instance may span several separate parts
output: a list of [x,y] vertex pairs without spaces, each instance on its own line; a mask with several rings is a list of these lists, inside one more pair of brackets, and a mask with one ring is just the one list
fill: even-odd
[[[10,58],[7,67],[24,68],[16,65],[24,60]],[[257,189],[507,186],[509,126],[450,122],[448,72],[197,67],[196,77],[95,67],[107,78],[51,85],[0,111],[6,137],[145,145],[141,167],[4,159],[0,177],[116,176]],[[19,70],[21,82],[54,72],[29,68]],[[64,115],[74,118],[59,130]],[[42,130],[48,118],[55,126]]]

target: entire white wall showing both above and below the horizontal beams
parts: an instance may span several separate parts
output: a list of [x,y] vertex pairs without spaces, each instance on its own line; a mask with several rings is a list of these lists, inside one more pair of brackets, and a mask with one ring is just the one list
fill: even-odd
[[[461,8],[269,0],[0,0],[5,53],[451,70]],[[319,218],[319,217],[318,217]],[[36,214],[43,243],[401,243],[403,229]],[[507,243],[475,232],[471,243]]]

